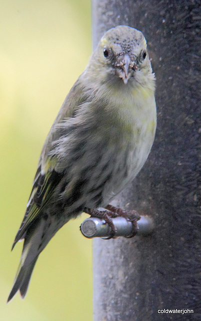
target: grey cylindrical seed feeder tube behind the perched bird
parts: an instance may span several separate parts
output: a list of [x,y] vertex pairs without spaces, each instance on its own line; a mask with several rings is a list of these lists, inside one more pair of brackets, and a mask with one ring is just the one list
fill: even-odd
[[115,202],[153,217],[155,231],[93,240],[94,321],[200,319],[198,6],[196,0],[92,0],[93,46],[116,25],[140,30],[157,86],[151,153]]

